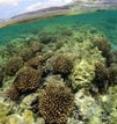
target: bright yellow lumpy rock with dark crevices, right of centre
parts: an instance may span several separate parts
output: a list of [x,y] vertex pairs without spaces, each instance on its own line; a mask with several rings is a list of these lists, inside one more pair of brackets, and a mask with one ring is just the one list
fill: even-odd
[[74,65],[73,72],[70,75],[70,79],[73,82],[73,88],[89,87],[94,77],[94,66],[85,60],[81,60],[80,63],[76,63]]

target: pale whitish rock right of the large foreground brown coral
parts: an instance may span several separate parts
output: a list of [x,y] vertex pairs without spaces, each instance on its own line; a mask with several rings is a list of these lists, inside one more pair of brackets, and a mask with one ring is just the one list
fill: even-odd
[[81,89],[75,94],[75,105],[79,109],[79,114],[83,120],[90,120],[92,117],[101,119],[102,108],[91,95],[86,93],[86,89]]

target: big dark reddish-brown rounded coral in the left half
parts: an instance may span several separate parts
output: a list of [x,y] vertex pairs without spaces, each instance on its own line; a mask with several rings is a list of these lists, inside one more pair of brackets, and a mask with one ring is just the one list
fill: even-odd
[[41,73],[31,68],[22,68],[14,81],[14,86],[20,93],[27,93],[39,87],[41,81]]

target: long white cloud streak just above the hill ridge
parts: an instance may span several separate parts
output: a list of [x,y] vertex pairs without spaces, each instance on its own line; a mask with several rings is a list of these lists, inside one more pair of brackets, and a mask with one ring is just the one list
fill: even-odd
[[36,9],[43,9],[43,8],[48,8],[48,7],[53,7],[53,6],[62,6],[68,3],[71,3],[72,0],[43,0],[39,1],[37,3],[34,3],[26,8],[27,11],[34,11]]

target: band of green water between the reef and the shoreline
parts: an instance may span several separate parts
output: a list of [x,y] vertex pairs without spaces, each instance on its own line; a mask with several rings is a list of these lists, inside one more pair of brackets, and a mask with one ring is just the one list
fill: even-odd
[[90,25],[104,32],[113,48],[117,48],[117,10],[98,11],[82,15],[59,16],[28,23],[14,24],[0,29],[0,43],[8,42],[22,35],[35,34],[43,28],[55,25],[76,28]]

